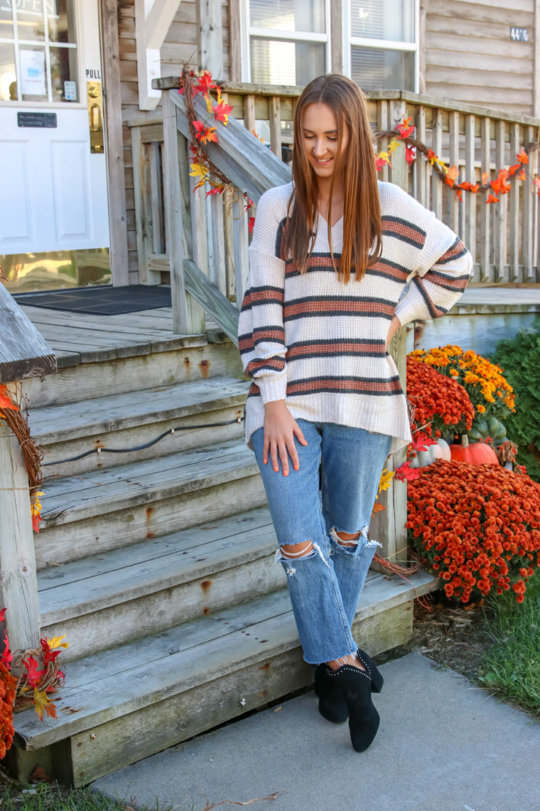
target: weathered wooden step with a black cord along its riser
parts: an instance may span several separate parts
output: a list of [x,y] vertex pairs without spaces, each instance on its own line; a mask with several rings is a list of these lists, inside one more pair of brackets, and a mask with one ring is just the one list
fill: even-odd
[[[235,378],[219,377],[147,388],[32,409],[28,422],[32,437],[45,454],[45,477],[81,474],[240,438],[243,427],[234,421],[242,418],[248,385]],[[232,424],[227,426],[182,430],[182,426],[230,421]],[[149,444],[172,427],[178,428],[174,435],[165,436],[149,448],[130,453],[104,450]],[[62,462],[87,451],[93,453]]]

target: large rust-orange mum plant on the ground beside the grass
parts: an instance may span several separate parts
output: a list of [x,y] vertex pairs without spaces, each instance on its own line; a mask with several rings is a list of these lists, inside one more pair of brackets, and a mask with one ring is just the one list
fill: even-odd
[[409,483],[406,527],[449,598],[512,589],[522,603],[540,564],[540,484],[503,467],[436,461]]

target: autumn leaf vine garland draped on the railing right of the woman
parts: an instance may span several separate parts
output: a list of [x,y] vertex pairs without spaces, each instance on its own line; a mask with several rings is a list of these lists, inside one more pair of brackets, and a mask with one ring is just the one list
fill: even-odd
[[[529,163],[529,156],[533,152],[537,152],[540,148],[540,141],[533,141],[525,148],[521,148],[521,151],[516,156],[518,162],[512,166],[509,166],[508,169],[499,169],[498,175],[494,180],[491,180],[488,172],[484,172],[482,174],[481,183],[473,183],[468,181],[457,183],[456,179],[459,174],[459,169],[457,169],[456,166],[449,168],[431,148],[427,147],[426,144],[423,144],[423,141],[411,135],[411,133],[415,130],[414,125],[411,125],[410,123],[411,120],[411,118],[403,117],[403,121],[398,124],[398,127],[395,130],[385,130],[374,133],[373,138],[377,144],[382,139],[391,139],[387,151],[379,152],[378,155],[376,155],[377,169],[382,169],[385,165],[391,166],[389,155],[391,152],[393,152],[393,150],[395,150],[398,143],[397,139],[399,139],[405,144],[407,163],[411,165],[413,161],[415,161],[414,150],[420,152],[432,165],[432,169],[436,172],[436,174],[438,174],[439,177],[444,180],[449,188],[453,189],[453,191],[457,193],[460,200],[462,199],[462,191],[471,191],[473,194],[477,194],[478,191],[489,191],[490,194],[488,195],[486,202],[498,203],[499,198],[491,192],[495,191],[495,194],[505,195],[508,193],[508,191],[510,191],[510,183],[513,180],[516,178],[518,180],[525,180],[523,165]],[[538,195],[540,196],[540,180],[538,178],[534,178],[534,185],[537,187]]]

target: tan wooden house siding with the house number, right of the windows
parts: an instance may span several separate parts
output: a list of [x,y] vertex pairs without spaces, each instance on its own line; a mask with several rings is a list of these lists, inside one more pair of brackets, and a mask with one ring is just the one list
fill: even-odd
[[424,0],[423,11],[427,95],[534,114],[534,0]]

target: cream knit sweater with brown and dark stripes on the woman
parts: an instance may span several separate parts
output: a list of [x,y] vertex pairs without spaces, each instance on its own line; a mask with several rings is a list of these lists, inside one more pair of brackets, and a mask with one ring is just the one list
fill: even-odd
[[[238,341],[246,375],[245,436],[264,423],[264,404],[285,399],[294,418],[339,423],[410,441],[398,370],[385,351],[393,315],[401,324],[448,312],[473,260],[456,234],[405,191],[379,183],[383,251],[360,282],[338,280],[319,216],[308,272],[284,252],[291,183],[266,191],[249,247],[249,284]],[[332,228],[338,259],[343,221]],[[410,281],[405,294],[404,288]],[[401,298],[400,298],[401,297]]]

